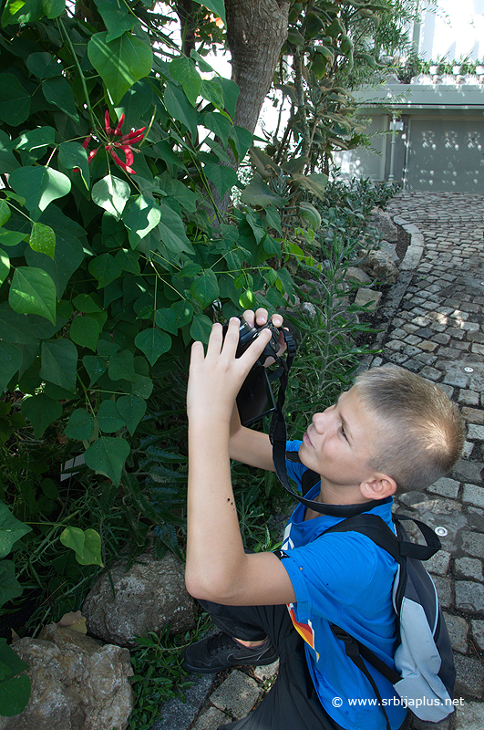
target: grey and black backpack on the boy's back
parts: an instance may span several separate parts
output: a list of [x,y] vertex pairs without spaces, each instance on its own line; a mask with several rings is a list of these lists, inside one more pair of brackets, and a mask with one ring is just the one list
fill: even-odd
[[[412,543],[400,524],[412,520],[425,537],[427,545]],[[402,704],[421,720],[438,723],[454,712],[454,684],[456,671],[448,631],[438,602],[433,580],[421,561],[427,560],[440,549],[440,540],[434,531],[412,517],[395,515],[396,536],[376,515],[357,515],[344,519],[327,529],[330,532],[360,532],[383,547],[398,563],[392,600],[397,616],[398,641],[393,671],[364,644],[333,625],[335,636],[345,641],[348,657],[365,674],[372,685],[378,704],[386,716],[385,701],[368,672],[364,659],[393,683]]]

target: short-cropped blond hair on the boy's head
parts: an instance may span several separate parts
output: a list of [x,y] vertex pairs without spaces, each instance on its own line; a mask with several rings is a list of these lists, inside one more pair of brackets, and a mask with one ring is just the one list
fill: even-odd
[[369,464],[396,481],[397,492],[425,489],[462,454],[464,422],[441,388],[396,365],[358,375],[355,389],[376,416],[376,452]]

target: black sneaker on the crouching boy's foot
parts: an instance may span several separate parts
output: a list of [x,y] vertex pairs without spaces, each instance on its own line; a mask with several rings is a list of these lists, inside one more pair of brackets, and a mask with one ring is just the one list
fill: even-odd
[[191,644],[183,653],[183,669],[187,672],[221,672],[227,667],[240,664],[265,666],[277,659],[277,652],[270,639],[261,646],[242,646],[226,633],[216,633]]

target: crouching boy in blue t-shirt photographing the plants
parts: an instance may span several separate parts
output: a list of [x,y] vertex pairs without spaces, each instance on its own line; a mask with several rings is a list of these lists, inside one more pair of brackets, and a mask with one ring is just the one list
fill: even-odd
[[[262,325],[267,313],[244,317]],[[393,668],[393,558],[359,533],[317,539],[341,517],[303,505],[291,516],[279,557],[243,549],[230,458],[272,471],[273,458],[268,436],[243,428],[234,408],[270,333],[263,330],[236,359],[239,324],[231,319],[225,339],[221,325],[214,325],[207,354],[200,342],[191,353],[185,579],[221,633],[191,646],[185,668],[217,672],[267,664],[279,655],[271,692],[248,717],[220,730],[385,730],[375,694],[331,626],[348,631]],[[282,318],[274,315],[273,324],[281,327]],[[288,443],[301,464],[288,461],[287,469],[299,484],[306,468],[321,474],[306,497],[327,505],[328,513],[356,505],[391,527],[397,488],[431,484],[455,464],[462,444],[461,419],[443,391],[387,367],[359,376],[334,406],[314,415],[303,441]],[[403,730],[407,711],[393,685],[368,669],[387,701],[392,730]]]

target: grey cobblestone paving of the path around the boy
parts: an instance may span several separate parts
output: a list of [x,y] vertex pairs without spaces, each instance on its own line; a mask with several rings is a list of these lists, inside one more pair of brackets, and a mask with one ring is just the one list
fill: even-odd
[[[445,611],[461,704],[452,721],[439,728],[479,730],[484,728],[484,195],[399,193],[387,211],[411,235],[411,245],[383,305],[381,354],[366,364],[393,362],[437,382],[467,422],[465,453],[452,474],[427,493],[402,495],[397,509],[434,527],[442,541],[427,569]],[[162,708],[152,730],[216,730],[247,714],[276,665],[250,674],[241,670],[228,673],[214,691],[212,676],[205,675],[186,704],[174,701]]]

